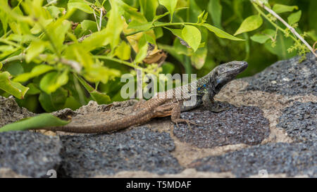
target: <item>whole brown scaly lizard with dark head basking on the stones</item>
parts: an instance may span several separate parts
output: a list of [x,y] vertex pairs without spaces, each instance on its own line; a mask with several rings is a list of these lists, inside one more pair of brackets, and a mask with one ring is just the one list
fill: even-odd
[[[245,61],[231,61],[218,65],[200,79],[165,92],[159,92],[147,101],[136,103],[133,113],[117,120],[100,124],[66,124],[58,127],[42,127],[41,129],[85,134],[109,134],[133,125],[144,124],[154,117],[166,117],[169,115],[175,124],[180,122],[195,124],[189,120],[181,119],[180,113],[197,108],[199,105],[205,105],[209,110],[218,112],[218,104],[213,100],[213,97],[218,94],[225,84],[235,79],[240,72],[245,70],[247,66],[248,63]],[[180,97],[177,98],[176,96]],[[196,99],[192,100],[192,96],[195,96]],[[187,105],[184,105],[185,101],[188,102]]]

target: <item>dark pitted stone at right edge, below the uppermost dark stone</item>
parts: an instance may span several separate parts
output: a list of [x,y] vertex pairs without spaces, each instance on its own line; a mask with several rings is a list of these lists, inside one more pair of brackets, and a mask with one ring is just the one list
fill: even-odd
[[300,103],[285,108],[277,127],[286,129],[294,141],[317,141],[317,103]]

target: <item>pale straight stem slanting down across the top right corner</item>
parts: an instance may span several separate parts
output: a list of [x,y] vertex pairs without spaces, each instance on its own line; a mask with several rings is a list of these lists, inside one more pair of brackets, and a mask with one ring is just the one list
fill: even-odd
[[[251,3],[256,4],[256,1],[254,0],[251,0]],[[271,8],[268,8],[267,6],[265,6],[264,4],[258,2],[257,4],[259,4],[259,6],[261,6],[262,8],[264,8],[266,11],[268,11],[268,13],[271,13],[275,18],[277,18],[278,20],[280,20],[280,22],[282,22],[282,24],[284,24],[288,29],[290,29],[290,31],[299,39],[303,42],[303,44],[305,44],[307,46],[307,48],[311,51],[311,53],[313,53],[313,55],[315,55],[317,57],[317,54],[315,53],[315,51],[313,51],[313,48],[307,43],[307,41],[305,41],[305,39],[297,33],[297,31],[292,27],[290,26],[285,20],[283,20],[280,15],[278,15],[277,13],[275,13]],[[255,6],[256,7],[256,6]],[[259,11],[259,8],[256,8],[258,11]],[[263,13],[263,12],[262,12]],[[262,14],[263,15],[263,14]],[[265,15],[265,14],[264,14]],[[266,16],[266,19],[267,16]],[[269,19],[268,19],[269,20]],[[271,21],[271,20],[270,20]],[[272,22],[271,22],[272,23]],[[278,26],[278,25],[276,25]],[[279,27],[280,30],[282,30],[281,27]],[[284,31],[284,30],[282,30]],[[291,36],[292,37],[292,36]]]

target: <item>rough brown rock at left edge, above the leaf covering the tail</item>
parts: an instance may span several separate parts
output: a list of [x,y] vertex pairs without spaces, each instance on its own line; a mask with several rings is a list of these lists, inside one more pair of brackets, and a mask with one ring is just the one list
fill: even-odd
[[0,96],[0,127],[32,115],[33,113],[27,109],[20,108],[13,96],[8,98]]

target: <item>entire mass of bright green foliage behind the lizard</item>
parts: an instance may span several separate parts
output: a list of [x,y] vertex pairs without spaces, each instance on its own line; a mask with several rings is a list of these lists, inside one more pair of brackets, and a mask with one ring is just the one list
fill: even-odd
[[120,75],[136,69],[201,77],[247,60],[246,76],[304,56],[261,4],[316,41],[313,0],[0,0],[0,94],[37,113],[77,109],[122,101]]

